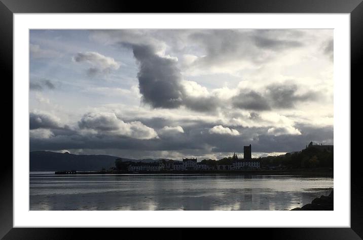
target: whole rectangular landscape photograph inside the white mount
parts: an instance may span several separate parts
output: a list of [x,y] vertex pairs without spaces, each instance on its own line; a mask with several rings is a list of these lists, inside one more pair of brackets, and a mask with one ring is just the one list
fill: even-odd
[[28,31],[29,211],[334,210],[334,29]]

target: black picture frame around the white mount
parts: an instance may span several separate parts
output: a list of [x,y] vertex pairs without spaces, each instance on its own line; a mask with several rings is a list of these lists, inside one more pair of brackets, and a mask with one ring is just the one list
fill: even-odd
[[[13,14],[14,13],[350,13],[351,83],[363,79],[363,3],[362,0],[213,0],[154,2],[99,0],[0,0],[0,69],[8,83],[13,79]],[[12,85],[11,85],[11,88]],[[352,88],[351,88],[352,89]],[[5,101],[5,97],[2,97]],[[8,100],[8,98],[7,98]],[[8,100],[9,101],[9,100]],[[7,101],[7,102],[8,102]],[[351,102],[353,98],[351,97]],[[12,110],[11,110],[12,111]],[[353,119],[353,118],[351,118]],[[14,120],[14,119],[13,119]],[[14,129],[14,125],[13,125]],[[355,145],[354,145],[355,144]],[[354,143],[353,146],[356,146]],[[10,150],[8,150],[10,152]],[[351,161],[351,228],[244,228],[236,232],[244,236],[268,236],[270,239],[360,239],[363,237],[363,194],[360,161]],[[100,238],[135,232],[125,228],[13,228],[13,163],[2,159],[0,174],[0,237],[4,239]],[[136,230],[137,232],[137,230]],[[160,234],[172,238],[190,238],[186,228],[148,229],[148,238]],[[140,234],[140,232],[138,233]],[[142,231],[141,231],[142,234]],[[203,230],[205,237],[228,237],[220,229]],[[137,235],[140,236],[140,235]],[[196,236],[196,235],[195,235]],[[162,237],[163,238],[163,237]]]

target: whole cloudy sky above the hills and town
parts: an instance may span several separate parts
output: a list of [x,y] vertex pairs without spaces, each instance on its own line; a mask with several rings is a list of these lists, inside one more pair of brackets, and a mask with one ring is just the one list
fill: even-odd
[[221,159],[333,144],[332,29],[31,29],[30,151]]

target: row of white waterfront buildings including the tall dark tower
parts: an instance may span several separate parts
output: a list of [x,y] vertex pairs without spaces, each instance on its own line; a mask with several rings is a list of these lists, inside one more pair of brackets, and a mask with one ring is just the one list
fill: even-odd
[[213,171],[213,170],[258,170],[260,161],[251,158],[251,145],[244,146],[244,158],[233,159],[230,165],[220,165],[217,161],[215,165],[208,165],[197,162],[197,158],[183,158],[183,161],[165,161],[161,159],[154,163],[131,163],[128,170],[131,172],[139,171]]

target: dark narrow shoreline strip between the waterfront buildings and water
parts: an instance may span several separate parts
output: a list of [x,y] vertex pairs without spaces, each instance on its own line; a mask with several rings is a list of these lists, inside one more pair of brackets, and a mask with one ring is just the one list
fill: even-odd
[[[240,171],[55,171],[55,175],[85,175],[85,174],[230,174],[230,175],[303,175],[303,176],[317,176],[317,177],[334,177],[333,169],[296,169],[296,170],[240,170]],[[68,171],[69,172],[69,171]]]

